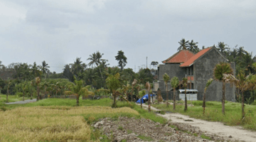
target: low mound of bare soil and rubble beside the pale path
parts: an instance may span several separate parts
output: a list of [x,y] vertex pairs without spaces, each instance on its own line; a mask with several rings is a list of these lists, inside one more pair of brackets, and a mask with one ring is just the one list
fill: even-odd
[[205,133],[198,127],[171,121],[160,124],[149,119],[119,117],[117,120],[101,119],[92,126],[100,129],[113,141],[230,141],[228,138]]

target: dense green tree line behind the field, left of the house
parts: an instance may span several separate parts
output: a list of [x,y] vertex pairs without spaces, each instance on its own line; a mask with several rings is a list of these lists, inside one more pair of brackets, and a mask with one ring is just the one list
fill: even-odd
[[[65,95],[65,91],[71,91],[70,84],[76,84],[82,80],[82,86],[90,86],[90,91],[107,89],[106,79],[110,75],[119,73],[122,85],[132,84],[133,80],[139,83],[153,82],[153,75],[149,69],[141,69],[135,73],[131,68],[124,68],[127,58],[122,50],[115,56],[118,66],[109,67],[108,60],[103,59],[103,53],[97,51],[87,58],[88,64],[76,58],[75,62],[65,65],[63,72],[50,72],[50,66],[46,61],[42,65],[28,65],[27,63],[11,63],[7,67],[1,65],[0,71],[12,70],[13,75],[8,80],[0,78],[0,92],[2,94],[18,94],[19,96],[38,96],[37,89],[42,95]],[[36,80],[36,78],[40,79]],[[89,90],[88,90],[89,91]],[[100,94],[100,92],[96,92]]]

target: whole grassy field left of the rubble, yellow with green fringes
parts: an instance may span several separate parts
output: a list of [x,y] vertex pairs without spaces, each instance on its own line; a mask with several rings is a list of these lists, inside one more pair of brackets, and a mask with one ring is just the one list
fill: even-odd
[[75,99],[43,99],[30,104],[1,104],[0,141],[111,141],[90,126],[98,119],[119,116],[146,118],[166,123],[166,119],[148,113],[139,106],[112,99],[82,100],[75,107]]

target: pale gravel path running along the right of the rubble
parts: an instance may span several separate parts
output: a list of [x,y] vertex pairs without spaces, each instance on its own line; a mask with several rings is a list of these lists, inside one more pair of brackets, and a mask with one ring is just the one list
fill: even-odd
[[[146,104],[143,104],[143,107],[147,109],[148,106]],[[151,107],[151,110],[159,111],[159,109],[156,109],[154,107]],[[225,126],[221,122],[193,119],[189,116],[185,116],[178,113],[166,113],[164,115],[162,114],[158,114],[158,115],[163,116],[166,119],[171,119],[171,122],[173,123],[188,124],[191,126],[196,126],[201,131],[222,136],[224,138],[228,138],[228,140],[230,141],[237,141],[237,140],[248,141],[248,142],[256,141],[256,132],[242,129],[241,126]]]

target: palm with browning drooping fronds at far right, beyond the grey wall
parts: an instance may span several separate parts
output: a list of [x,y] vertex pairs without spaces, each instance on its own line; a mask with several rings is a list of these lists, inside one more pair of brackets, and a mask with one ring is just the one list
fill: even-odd
[[238,72],[238,77],[235,78],[234,75],[227,75],[224,74],[224,80],[225,82],[230,82],[231,84],[235,84],[235,87],[237,87],[240,90],[240,93],[242,94],[242,119],[245,117],[245,91],[250,89],[255,89],[255,83],[256,83],[256,76],[255,75],[247,75],[245,76],[245,72],[240,70]]

